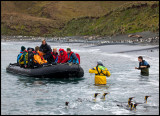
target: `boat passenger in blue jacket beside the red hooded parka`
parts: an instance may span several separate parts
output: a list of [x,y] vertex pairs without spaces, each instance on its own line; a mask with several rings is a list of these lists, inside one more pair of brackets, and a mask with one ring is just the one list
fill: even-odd
[[68,62],[71,63],[77,63],[79,64],[78,58],[74,52],[71,51],[70,48],[67,48],[67,55],[68,55]]

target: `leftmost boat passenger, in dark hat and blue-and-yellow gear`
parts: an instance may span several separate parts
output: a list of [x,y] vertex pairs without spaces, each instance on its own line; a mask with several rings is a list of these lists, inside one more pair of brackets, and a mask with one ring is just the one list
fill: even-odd
[[27,67],[28,64],[28,53],[27,50],[24,46],[21,47],[21,52],[17,57],[17,63],[21,66],[21,67]]

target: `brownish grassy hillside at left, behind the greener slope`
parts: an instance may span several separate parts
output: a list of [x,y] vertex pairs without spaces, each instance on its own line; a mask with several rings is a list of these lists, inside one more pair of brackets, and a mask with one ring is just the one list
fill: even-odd
[[2,1],[1,34],[55,36],[72,18],[102,16],[126,2]]

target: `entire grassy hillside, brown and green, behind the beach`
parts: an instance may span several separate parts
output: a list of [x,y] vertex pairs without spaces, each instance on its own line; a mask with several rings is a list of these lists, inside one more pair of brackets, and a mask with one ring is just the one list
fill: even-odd
[[3,1],[1,34],[116,35],[159,31],[159,2]]

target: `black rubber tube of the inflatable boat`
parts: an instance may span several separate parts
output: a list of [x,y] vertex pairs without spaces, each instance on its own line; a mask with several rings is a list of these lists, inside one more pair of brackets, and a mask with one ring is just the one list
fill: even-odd
[[16,64],[10,64],[6,68],[6,71],[18,75],[47,78],[83,77],[84,75],[84,71],[79,64],[56,64],[34,69],[22,68]]

